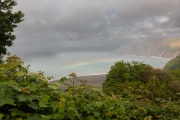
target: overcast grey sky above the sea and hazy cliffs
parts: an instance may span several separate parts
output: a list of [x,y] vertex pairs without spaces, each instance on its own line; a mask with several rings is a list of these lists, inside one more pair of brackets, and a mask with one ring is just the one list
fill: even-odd
[[127,42],[180,37],[180,0],[17,0],[25,21],[9,48],[22,55],[113,51]]

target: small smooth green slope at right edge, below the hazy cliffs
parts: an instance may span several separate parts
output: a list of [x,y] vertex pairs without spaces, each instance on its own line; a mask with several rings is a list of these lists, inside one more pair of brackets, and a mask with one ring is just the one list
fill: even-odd
[[180,69],[180,55],[170,60],[163,68],[164,70],[175,70]]

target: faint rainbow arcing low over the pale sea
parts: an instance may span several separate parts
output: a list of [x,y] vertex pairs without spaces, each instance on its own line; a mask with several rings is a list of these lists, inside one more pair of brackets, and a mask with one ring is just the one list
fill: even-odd
[[96,60],[80,61],[80,62],[76,62],[76,63],[70,64],[67,66],[62,66],[58,70],[62,71],[62,70],[66,70],[66,69],[73,68],[73,67],[80,67],[80,66],[96,64],[96,63],[116,62],[116,61],[119,61],[119,59],[111,58],[111,59],[96,59]]

